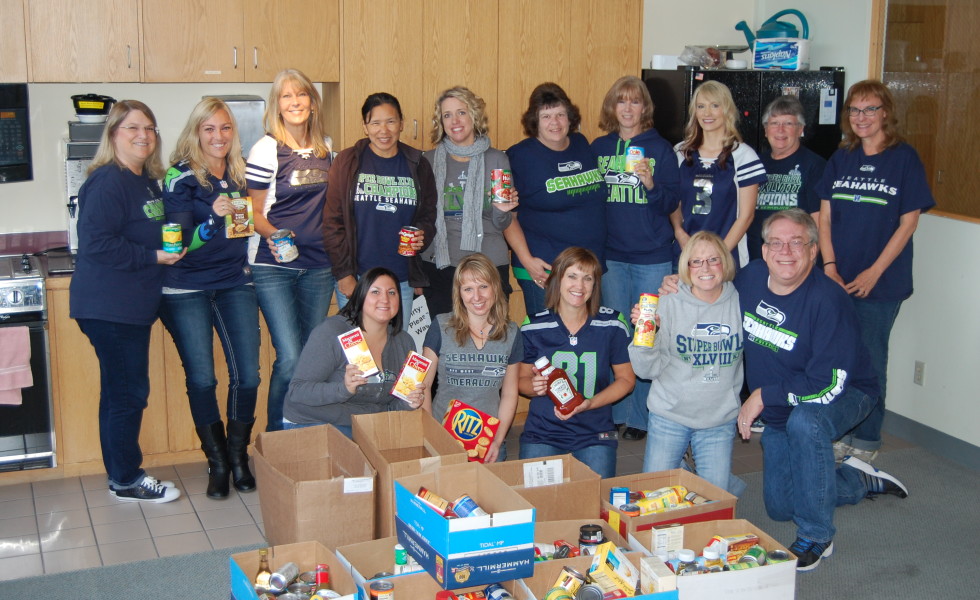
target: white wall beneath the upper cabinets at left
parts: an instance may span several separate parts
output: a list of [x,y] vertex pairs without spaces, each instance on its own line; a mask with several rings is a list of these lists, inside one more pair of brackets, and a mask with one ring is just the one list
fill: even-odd
[[64,160],[68,121],[75,116],[71,96],[89,92],[145,102],[160,124],[166,162],[191,109],[202,96],[255,94],[266,98],[269,84],[31,84],[28,94],[34,180],[0,185],[0,233],[57,231],[68,226]]

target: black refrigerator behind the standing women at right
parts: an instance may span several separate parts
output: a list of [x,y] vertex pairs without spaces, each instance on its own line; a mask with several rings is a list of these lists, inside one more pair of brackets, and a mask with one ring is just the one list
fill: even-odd
[[806,128],[803,145],[824,158],[841,140],[840,114],[844,102],[843,67],[819,71],[706,70],[681,67],[676,71],[643,70],[643,81],[653,98],[654,127],[671,144],[684,139],[691,95],[705,81],[718,81],[732,91],[740,113],[739,132],[757,152],[768,151],[762,113],[777,97],[791,93],[803,103]]

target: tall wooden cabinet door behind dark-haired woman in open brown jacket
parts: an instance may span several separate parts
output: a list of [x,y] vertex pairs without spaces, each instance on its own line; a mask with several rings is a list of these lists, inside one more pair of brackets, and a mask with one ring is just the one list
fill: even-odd
[[398,98],[405,119],[401,140],[420,147],[426,122],[422,99],[422,0],[347,0],[343,17],[341,143],[364,137],[361,105],[369,94]]

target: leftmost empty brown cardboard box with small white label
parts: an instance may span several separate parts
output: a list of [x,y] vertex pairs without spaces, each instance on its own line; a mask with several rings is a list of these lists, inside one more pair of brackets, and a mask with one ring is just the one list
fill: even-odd
[[265,537],[336,548],[374,537],[375,470],[332,425],[263,432],[255,440]]

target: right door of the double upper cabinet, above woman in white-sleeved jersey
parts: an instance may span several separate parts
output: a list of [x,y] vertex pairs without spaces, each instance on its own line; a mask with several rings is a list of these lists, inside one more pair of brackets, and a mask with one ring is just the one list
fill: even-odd
[[299,69],[312,81],[340,79],[340,0],[246,0],[245,81]]

